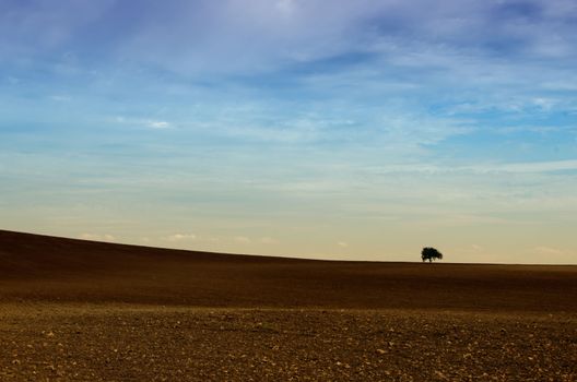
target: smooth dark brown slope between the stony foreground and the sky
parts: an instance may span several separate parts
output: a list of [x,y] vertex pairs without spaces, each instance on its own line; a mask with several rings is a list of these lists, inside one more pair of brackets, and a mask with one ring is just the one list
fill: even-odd
[[0,301],[573,312],[577,266],[317,261],[0,230]]

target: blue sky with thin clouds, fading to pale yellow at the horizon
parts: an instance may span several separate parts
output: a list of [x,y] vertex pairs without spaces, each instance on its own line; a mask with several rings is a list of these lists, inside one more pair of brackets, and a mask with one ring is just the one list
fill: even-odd
[[0,229],[577,264],[574,0],[0,0]]

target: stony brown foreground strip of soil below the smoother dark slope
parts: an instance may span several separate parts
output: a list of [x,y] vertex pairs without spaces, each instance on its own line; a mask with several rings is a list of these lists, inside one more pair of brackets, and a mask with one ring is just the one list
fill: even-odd
[[0,305],[1,381],[577,381],[577,317]]

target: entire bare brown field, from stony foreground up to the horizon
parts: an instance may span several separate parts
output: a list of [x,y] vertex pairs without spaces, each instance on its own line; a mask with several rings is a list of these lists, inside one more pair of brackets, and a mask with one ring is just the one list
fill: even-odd
[[323,262],[0,230],[0,381],[577,381],[577,266]]

